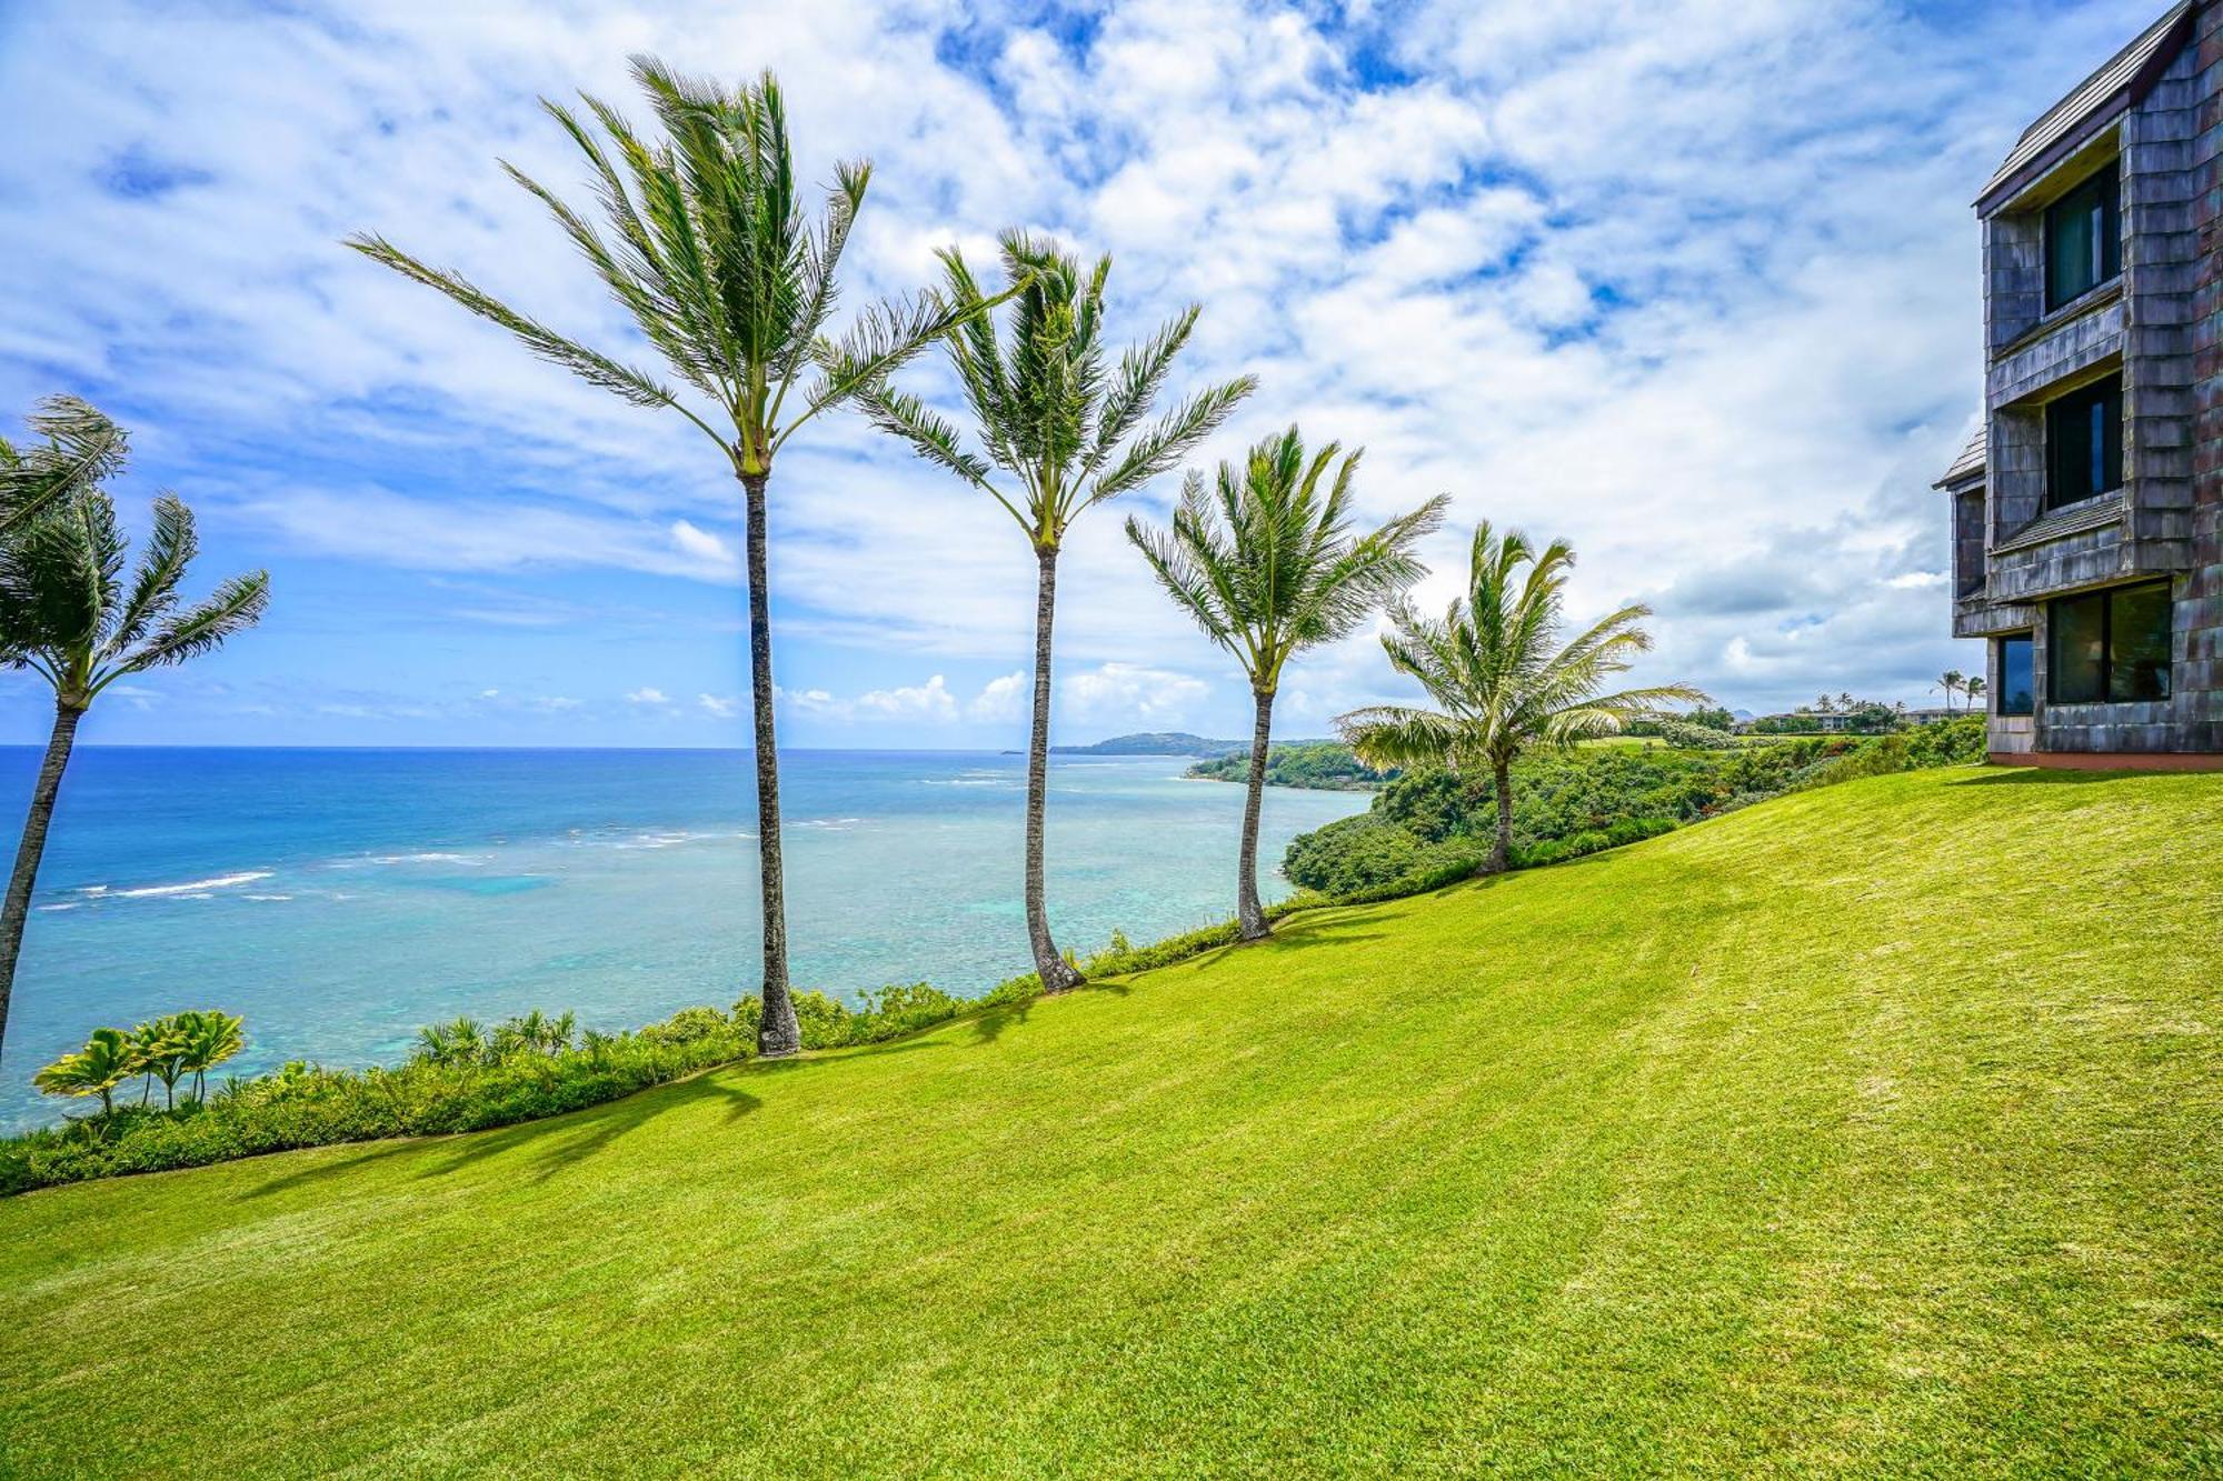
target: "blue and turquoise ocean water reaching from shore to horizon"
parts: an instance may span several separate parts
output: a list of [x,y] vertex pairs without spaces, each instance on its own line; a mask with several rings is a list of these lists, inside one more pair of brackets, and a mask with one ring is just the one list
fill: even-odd
[[[1243,789],[1183,781],[1185,765],[1054,765],[1060,943],[1234,914]],[[9,849],[36,767],[0,749]],[[782,756],[796,983],[965,996],[1025,972],[1023,781],[1020,756],[989,752]],[[1260,858],[1360,807],[1269,789]],[[456,1014],[569,1007],[631,1027],[754,990],[756,925],[747,752],[87,747],[24,934],[0,1125],[53,1121],[31,1072],[102,1023],[245,1014],[240,1072],[391,1063]]]

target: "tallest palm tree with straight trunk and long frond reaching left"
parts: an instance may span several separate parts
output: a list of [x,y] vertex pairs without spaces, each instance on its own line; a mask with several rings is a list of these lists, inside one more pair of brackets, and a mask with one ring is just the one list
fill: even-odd
[[[836,269],[865,205],[871,165],[845,162],[825,218],[807,220],[787,142],[787,105],[771,73],[727,91],[680,78],[638,56],[634,80],[665,138],[645,140],[611,107],[585,98],[600,133],[571,109],[542,100],[594,173],[605,231],[551,191],[505,165],[594,267],[671,374],[709,402],[698,411],[656,376],[565,338],[491,298],[460,274],[427,267],[382,236],[358,233],[356,251],[440,289],[560,365],[636,407],[669,407],[714,440],[740,480],[747,523],[749,687],[756,709],[756,849],[765,914],[765,1014],[758,1052],[800,1047],[787,987],[787,907],[780,867],[780,767],[771,723],[771,592],[765,578],[767,483],[787,440],[820,411],[925,349],[963,311],[934,298],[860,314],[827,340]],[[605,145],[607,138],[607,145]],[[807,380],[807,385],[805,385]]]

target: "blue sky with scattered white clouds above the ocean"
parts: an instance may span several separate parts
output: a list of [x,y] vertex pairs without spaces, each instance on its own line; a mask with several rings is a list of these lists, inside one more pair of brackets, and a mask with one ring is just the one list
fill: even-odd
[[[338,238],[636,351],[496,160],[574,189],[534,98],[638,113],[627,53],[774,67],[814,178],[876,160],[851,305],[1005,225],[1112,251],[1114,336],[1198,300],[1185,376],[1260,378],[1207,458],[1296,420],[1367,447],[1369,516],[1454,496],[1425,603],[1489,518],[1572,538],[1581,609],[1649,600],[1647,676],[1932,703],[1978,665],[1927,487],[1978,394],[1967,200],[2156,9],[11,0],[0,423],[91,398],[133,431],[133,520],[178,489],[205,583],[273,578],[258,632],[89,740],[745,743],[738,489],[700,434]],[[1067,549],[1060,736],[1240,734],[1240,676],[1118,523]],[[1018,745],[1007,516],[843,416],[771,529],[782,743]],[[1292,674],[1280,732],[1394,694],[1363,634]],[[44,725],[0,678],[0,740]]]

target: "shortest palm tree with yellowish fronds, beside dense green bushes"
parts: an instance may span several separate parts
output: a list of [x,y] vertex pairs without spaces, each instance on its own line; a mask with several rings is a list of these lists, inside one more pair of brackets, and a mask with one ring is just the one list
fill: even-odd
[[1692,685],[1605,692],[1629,656],[1652,647],[1638,623],[1649,607],[1607,614],[1561,643],[1561,603],[1574,549],[1552,540],[1536,551],[1516,529],[1498,536],[1485,520],[1474,531],[1467,594],[1438,618],[1403,598],[1389,607],[1396,632],[1383,634],[1389,663],[1420,680],[1441,709],[1374,705],[1336,720],[1358,758],[1372,767],[1441,765],[1489,769],[1498,801],[1498,838],[1485,874],[1512,856],[1512,763],[1532,745],[1569,747],[1618,734],[1663,705],[1703,705]]

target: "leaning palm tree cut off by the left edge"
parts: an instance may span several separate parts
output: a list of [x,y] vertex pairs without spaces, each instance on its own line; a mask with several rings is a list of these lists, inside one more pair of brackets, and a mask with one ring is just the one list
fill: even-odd
[[0,1036],[78,720],[116,680],[213,652],[269,605],[269,574],[251,571],[180,607],[178,585],[198,549],[193,511],[176,494],[158,496],[153,534],[127,587],[116,505],[100,489],[49,505],[0,540],[0,665],[31,669],[53,685],[53,734],[0,905]]

